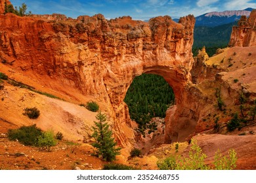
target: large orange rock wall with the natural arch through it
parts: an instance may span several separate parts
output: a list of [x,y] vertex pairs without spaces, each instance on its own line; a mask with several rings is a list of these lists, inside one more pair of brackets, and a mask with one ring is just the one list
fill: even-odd
[[175,107],[165,118],[165,141],[182,141],[194,132],[198,120],[191,97],[196,91],[191,93],[190,87],[194,16],[182,17],[179,24],[169,16],[142,22],[129,16],[106,20],[102,14],[77,19],[2,14],[0,20],[1,58],[15,60],[12,67],[24,73],[49,76],[103,101],[122,146],[131,148],[135,143],[123,99],[133,78],[142,73],[163,76],[175,92]]

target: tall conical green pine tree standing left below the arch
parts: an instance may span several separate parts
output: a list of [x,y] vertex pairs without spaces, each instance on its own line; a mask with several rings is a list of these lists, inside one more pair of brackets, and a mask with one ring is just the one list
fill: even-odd
[[120,154],[121,148],[116,147],[116,142],[112,137],[112,131],[110,130],[110,125],[106,123],[106,114],[98,112],[96,115],[98,122],[95,122],[95,127],[93,127],[93,135],[95,141],[92,145],[97,148],[98,156],[106,161],[112,161],[116,159],[116,156]]

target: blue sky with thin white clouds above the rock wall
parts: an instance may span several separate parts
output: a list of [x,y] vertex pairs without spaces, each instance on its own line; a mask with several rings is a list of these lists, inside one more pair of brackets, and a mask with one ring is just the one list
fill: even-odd
[[199,16],[206,12],[256,8],[256,0],[10,0],[15,6],[26,3],[33,14],[80,15],[103,14],[105,18],[131,16],[133,20],[148,20],[169,15],[179,18],[188,14]]

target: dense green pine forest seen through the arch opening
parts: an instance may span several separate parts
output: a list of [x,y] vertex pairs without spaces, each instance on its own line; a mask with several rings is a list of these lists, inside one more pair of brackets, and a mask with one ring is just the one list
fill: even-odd
[[154,131],[155,126],[150,120],[165,118],[167,108],[175,101],[175,94],[162,76],[142,74],[133,80],[124,101],[129,107],[131,120],[139,124],[139,130],[144,132],[149,128]]

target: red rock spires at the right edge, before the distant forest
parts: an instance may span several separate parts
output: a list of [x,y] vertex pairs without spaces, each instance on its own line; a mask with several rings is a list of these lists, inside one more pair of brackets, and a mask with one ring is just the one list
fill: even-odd
[[255,46],[256,45],[256,10],[251,11],[249,18],[242,16],[238,26],[232,29],[228,46]]

